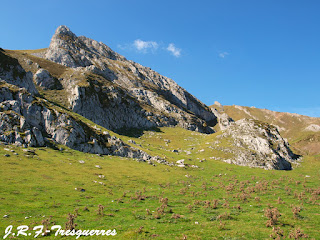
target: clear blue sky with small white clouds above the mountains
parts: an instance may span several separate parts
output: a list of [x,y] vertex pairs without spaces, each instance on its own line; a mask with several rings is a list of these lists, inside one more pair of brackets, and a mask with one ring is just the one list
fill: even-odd
[[2,48],[45,48],[67,25],[207,105],[320,117],[318,0],[1,0],[1,9]]

